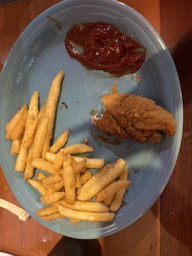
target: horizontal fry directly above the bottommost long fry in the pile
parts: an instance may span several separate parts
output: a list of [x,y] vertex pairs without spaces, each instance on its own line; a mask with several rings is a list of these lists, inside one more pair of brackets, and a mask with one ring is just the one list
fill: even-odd
[[86,212],[108,212],[109,208],[107,205],[99,202],[79,202],[76,201],[74,204],[67,204],[65,198],[53,204],[53,206],[58,207],[63,205],[69,209],[76,211],[86,211]]

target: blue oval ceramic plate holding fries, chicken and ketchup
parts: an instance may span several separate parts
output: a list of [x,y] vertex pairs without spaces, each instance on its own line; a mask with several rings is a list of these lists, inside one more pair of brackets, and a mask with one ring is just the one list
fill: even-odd
[[[65,0],[41,13],[19,36],[4,64],[1,74],[1,164],[4,175],[20,204],[43,225],[70,237],[91,239],[114,234],[138,220],[161,195],[177,159],[182,136],[182,97],[179,79],[173,60],[163,40],[139,13],[129,6],[112,0]],[[60,26],[47,19],[54,17]],[[132,36],[147,48],[145,63],[137,72],[141,83],[135,83],[134,75],[115,78],[101,71],[88,71],[70,58],[64,40],[68,29],[80,22],[105,21]],[[58,108],[54,136],[70,129],[68,145],[82,143],[88,138],[95,148],[92,157],[104,157],[106,163],[117,157],[127,161],[132,180],[122,207],[113,223],[70,224],[67,219],[44,221],[35,216],[42,207],[40,195],[23,180],[23,173],[14,172],[15,157],[10,156],[10,141],[4,139],[4,127],[15,111],[29,102],[34,90],[40,92],[44,104],[51,81],[59,70],[65,72],[60,103],[68,109]],[[90,124],[90,111],[101,107],[100,98],[118,83],[118,92],[138,93],[153,99],[168,109],[177,120],[174,137],[164,137],[161,143],[122,141],[119,145],[105,143],[92,134],[100,134]],[[79,103],[76,102],[79,100]],[[37,170],[38,172],[38,170]],[[36,172],[36,173],[37,173]]]

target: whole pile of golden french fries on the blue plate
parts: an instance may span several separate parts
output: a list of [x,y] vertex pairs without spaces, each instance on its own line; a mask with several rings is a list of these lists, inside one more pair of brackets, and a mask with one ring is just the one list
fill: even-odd
[[[12,140],[10,153],[17,155],[16,172],[41,194],[48,205],[36,212],[44,220],[70,218],[79,221],[111,221],[118,211],[130,180],[124,159],[104,166],[104,159],[76,156],[93,152],[93,147],[77,143],[65,147],[69,131],[64,131],[50,147],[56,106],[63,72],[54,78],[45,105],[38,111],[38,92],[17,111],[6,125],[6,138]],[[35,168],[39,172],[36,179]],[[89,169],[100,170],[92,176]],[[92,200],[92,201],[91,201]]]

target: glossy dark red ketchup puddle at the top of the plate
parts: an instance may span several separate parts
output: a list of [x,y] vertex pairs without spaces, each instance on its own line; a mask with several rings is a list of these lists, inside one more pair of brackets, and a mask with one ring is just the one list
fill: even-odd
[[65,38],[65,47],[87,68],[115,76],[132,74],[145,61],[144,47],[106,22],[73,26]]

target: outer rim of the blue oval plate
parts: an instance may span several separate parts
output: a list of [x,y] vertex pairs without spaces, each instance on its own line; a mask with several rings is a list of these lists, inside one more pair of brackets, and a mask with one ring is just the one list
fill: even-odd
[[[8,57],[6,58],[6,61],[4,62],[2,71],[1,71],[1,76],[0,76],[0,84],[3,81],[3,77],[6,77],[6,67],[8,65],[8,61],[11,61],[12,59],[12,54],[13,51],[15,50],[15,48],[17,48],[17,46],[19,45],[19,39],[21,37],[24,37],[26,34],[26,31],[28,31],[29,29],[31,29],[31,27],[35,24],[35,22],[38,22],[38,20],[40,20],[42,17],[44,17],[44,15],[47,13],[49,14],[49,12],[51,12],[52,10],[54,10],[55,8],[57,8],[58,6],[63,6],[63,4],[67,4],[68,2],[76,2],[76,0],[65,0],[65,1],[61,1],[60,3],[54,4],[54,6],[51,6],[50,8],[48,8],[47,10],[45,10],[44,12],[40,13],[40,15],[38,15],[34,20],[31,21],[31,23],[26,27],[26,29],[24,29],[24,31],[22,31],[22,33],[20,34],[19,38],[17,38],[15,44],[13,45],[10,53],[8,54]],[[81,1],[81,0],[80,0]],[[99,2],[99,1],[98,1]],[[83,4],[83,1],[81,1],[81,3]],[[90,4],[93,3],[93,1],[90,0]],[[133,15],[135,17],[137,17],[138,19],[140,19],[143,24],[145,24],[145,28],[150,29],[150,31],[153,33],[154,38],[156,38],[156,40],[162,45],[164,51],[166,51],[166,55],[170,61],[171,67],[169,67],[170,69],[172,68],[172,71],[175,73],[175,86],[177,86],[177,90],[179,90],[179,100],[180,100],[180,109],[179,109],[179,117],[180,117],[180,122],[179,125],[177,125],[177,129],[179,131],[179,133],[177,134],[177,148],[175,148],[175,154],[173,157],[173,164],[172,166],[170,166],[170,172],[168,173],[168,175],[166,175],[166,177],[164,178],[164,183],[161,186],[161,191],[158,195],[156,195],[156,198],[154,199],[154,202],[150,202],[147,207],[145,207],[145,209],[143,211],[141,211],[141,213],[134,218],[133,221],[131,221],[131,223],[125,223],[125,225],[120,225],[119,227],[116,227],[116,225],[111,225],[111,230],[108,230],[109,228],[104,228],[104,231],[100,230],[99,228],[99,232],[88,232],[88,230],[82,230],[81,232],[74,232],[74,231],[68,231],[65,230],[65,235],[69,236],[69,237],[74,237],[74,238],[80,238],[81,239],[94,239],[94,238],[98,238],[98,237],[104,237],[104,236],[109,236],[112,234],[116,233],[116,229],[118,229],[118,231],[122,230],[123,228],[127,227],[128,225],[131,225],[134,221],[138,220],[145,212],[147,212],[148,209],[150,209],[150,207],[152,207],[152,205],[156,202],[157,198],[159,198],[159,196],[161,195],[161,193],[163,192],[163,189],[165,188],[166,184],[168,183],[168,180],[170,179],[170,176],[172,175],[173,172],[173,168],[175,166],[175,163],[177,161],[177,156],[179,154],[179,148],[180,148],[180,142],[181,142],[181,138],[182,138],[182,126],[183,126],[183,108],[182,108],[182,95],[181,95],[181,90],[180,90],[180,83],[179,83],[179,77],[177,75],[177,70],[175,68],[175,65],[173,63],[172,60],[172,56],[170,55],[170,52],[168,51],[166,45],[164,44],[162,38],[159,36],[159,34],[157,33],[157,31],[152,27],[152,25],[138,12],[136,12],[136,10],[132,9],[130,6],[127,6],[124,3],[120,3],[116,0],[105,0],[105,3],[109,3],[109,4],[116,4],[118,6],[120,6],[121,8],[127,9],[130,12],[133,13]],[[64,7],[65,8],[65,7]],[[3,95],[3,86],[0,86],[0,103],[2,102],[2,95]],[[1,127],[1,129],[3,129],[3,127]],[[2,133],[2,132],[1,132]],[[2,136],[2,134],[1,134]],[[3,156],[3,149],[0,147],[0,157]],[[22,196],[17,192],[17,190],[15,190],[15,183],[13,182],[13,180],[9,180],[8,179],[8,174],[4,171],[6,170],[6,166],[4,166],[4,164],[2,164],[2,168],[3,168],[3,172],[4,175],[8,181],[8,184],[10,185],[10,187],[12,188],[13,193],[15,194],[15,196],[17,197],[17,199],[19,200],[19,202],[22,202]],[[23,207],[26,209],[26,203],[22,202]],[[146,206],[146,205],[145,205]],[[29,214],[38,222],[42,223],[45,227],[50,228],[49,227],[49,221],[42,221],[40,220],[40,218],[38,218],[34,212],[30,212]],[[65,227],[63,227],[65,228]],[[51,228],[52,229],[52,228]],[[59,232],[61,234],[63,234],[63,232],[61,232],[60,228],[56,225],[54,225],[54,229],[52,229],[56,232]]]

